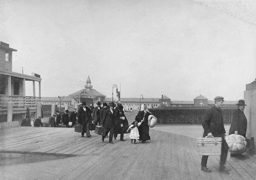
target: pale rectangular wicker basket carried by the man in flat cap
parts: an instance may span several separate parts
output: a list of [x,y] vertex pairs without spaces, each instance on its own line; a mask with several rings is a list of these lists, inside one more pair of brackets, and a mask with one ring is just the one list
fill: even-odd
[[221,137],[201,137],[196,139],[198,155],[221,155]]

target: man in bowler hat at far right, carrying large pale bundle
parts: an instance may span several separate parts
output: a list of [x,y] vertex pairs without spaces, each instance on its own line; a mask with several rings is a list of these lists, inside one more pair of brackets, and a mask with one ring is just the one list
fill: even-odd
[[[247,106],[244,100],[239,100],[237,109],[233,112],[233,119],[231,122],[229,135],[239,134],[241,136],[246,136],[247,131],[247,118],[244,115],[244,108]],[[241,156],[241,154],[230,154],[230,157]]]

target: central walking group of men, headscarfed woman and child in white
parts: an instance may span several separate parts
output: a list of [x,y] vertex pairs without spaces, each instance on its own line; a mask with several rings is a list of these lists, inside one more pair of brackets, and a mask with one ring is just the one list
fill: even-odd
[[[108,142],[113,144],[113,138],[116,140],[117,134],[120,134],[120,141],[125,141],[124,132],[126,129],[131,129],[131,143],[136,144],[136,140],[142,140],[145,143],[146,140],[150,140],[149,136],[149,126],[148,126],[148,115],[151,114],[147,109],[147,105],[143,104],[142,109],[139,111],[135,118],[135,122],[128,127],[128,120],[123,111],[122,104],[115,103],[97,103],[97,107],[93,108],[92,114],[90,114],[90,108],[86,107],[86,103],[82,102],[82,106],[77,113],[78,123],[83,126],[83,131],[81,132],[81,137],[84,137],[84,132],[87,137],[90,137],[90,126],[99,125],[106,128],[106,133],[102,135],[102,141],[109,133]],[[92,124],[90,124],[92,122]],[[127,129],[127,131],[128,131]],[[137,129],[137,131],[136,131]]]

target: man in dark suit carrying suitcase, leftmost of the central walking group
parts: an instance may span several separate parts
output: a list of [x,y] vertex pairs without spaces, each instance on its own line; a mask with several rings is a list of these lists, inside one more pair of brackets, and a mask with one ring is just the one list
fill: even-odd
[[84,137],[84,131],[86,131],[86,136],[91,137],[90,135],[90,122],[92,122],[92,116],[90,113],[90,109],[86,107],[86,103],[82,102],[82,107],[78,110],[77,120],[80,125],[83,126],[83,131],[81,132]]

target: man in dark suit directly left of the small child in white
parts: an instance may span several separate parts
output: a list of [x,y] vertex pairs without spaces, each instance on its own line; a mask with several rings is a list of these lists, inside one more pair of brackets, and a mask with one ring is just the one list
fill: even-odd
[[116,140],[117,132],[120,131],[120,141],[124,140],[124,131],[125,126],[128,126],[128,120],[125,117],[125,112],[122,110],[124,107],[122,104],[119,104],[116,107],[116,127],[115,127],[115,134],[114,134],[114,140]]

